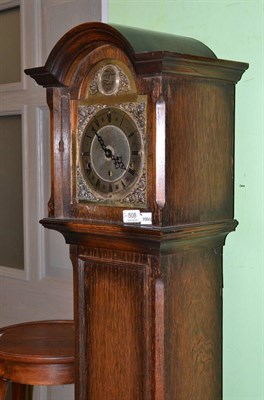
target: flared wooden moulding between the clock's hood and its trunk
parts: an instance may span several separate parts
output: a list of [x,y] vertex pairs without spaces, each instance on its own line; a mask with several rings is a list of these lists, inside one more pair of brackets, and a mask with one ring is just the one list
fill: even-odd
[[40,223],[60,232],[67,244],[152,255],[170,254],[178,248],[190,251],[210,243],[212,247],[223,246],[228,233],[238,224],[236,220],[226,220],[161,227],[60,218],[44,218]]

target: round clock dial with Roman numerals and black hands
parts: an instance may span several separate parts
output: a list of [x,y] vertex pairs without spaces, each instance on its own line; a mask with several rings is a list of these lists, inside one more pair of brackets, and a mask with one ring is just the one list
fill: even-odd
[[124,196],[143,163],[142,139],[132,117],[117,107],[98,111],[83,130],[79,157],[83,178],[95,193]]

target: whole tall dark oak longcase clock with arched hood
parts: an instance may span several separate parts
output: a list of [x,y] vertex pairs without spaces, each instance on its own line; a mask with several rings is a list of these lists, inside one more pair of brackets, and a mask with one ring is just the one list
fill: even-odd
[[43,67],[52,191],[74,271],[77,400],[222,398],[235,84],[184,37],[87,23]]

